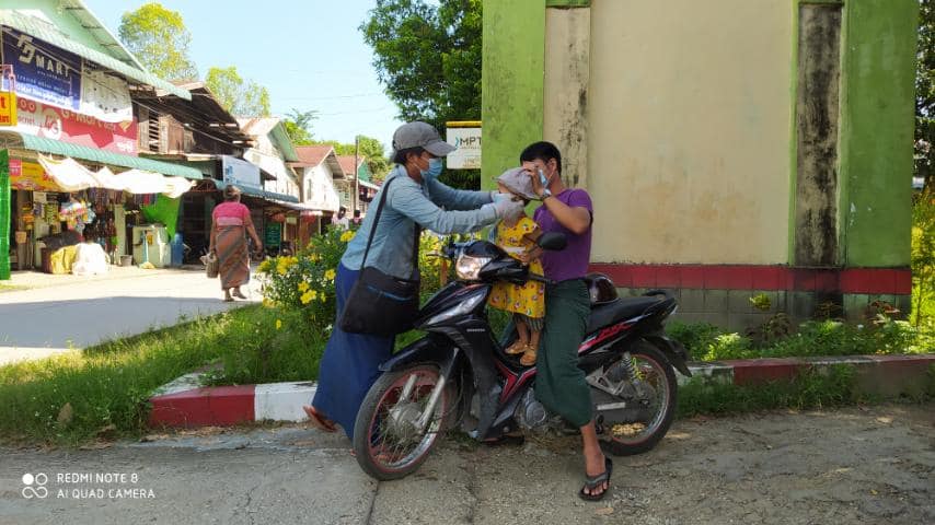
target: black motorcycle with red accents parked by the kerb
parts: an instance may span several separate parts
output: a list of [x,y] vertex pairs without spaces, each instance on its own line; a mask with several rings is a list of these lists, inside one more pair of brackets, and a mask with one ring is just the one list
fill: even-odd
[[[538,244],[563,249],[566,238],[546,233]],[[497,440],[561,419],[535,399],[535,368],[495,340],[485,307],[497,281],[549,281],[486,241],[450,243],[441,255],[455,261],[458,280],[423,306],[415,327],[427,335],[380,365],[355,422],[357,462],[380,480],[415,471],[446,429],[460,424],[480,440]],[[646,452],[672,422],[672,369],[691,375],[685,349],[663,329],[677,302],[662,290],[621,299],[605,276],[586,280],[591,315],[578,366],[591,386],[598,435],[611,454]]]

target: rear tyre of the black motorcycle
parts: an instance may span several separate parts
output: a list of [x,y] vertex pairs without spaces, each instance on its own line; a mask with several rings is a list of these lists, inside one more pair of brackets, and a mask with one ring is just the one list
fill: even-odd
[[[649,421],[631,423],[624,434],[615,433],[620,424],[604,430],[603,448],[614,456],[632,456],[653,450],[669,431],[676,415],[679,384],[669,360],[653,345],[640,341],[630,351],[632,363],[642,381],[656,392],[653,400],[654,416]],[[640,428],[642,427],[642,428]],[[634,432],[633,430],[636,429]]]

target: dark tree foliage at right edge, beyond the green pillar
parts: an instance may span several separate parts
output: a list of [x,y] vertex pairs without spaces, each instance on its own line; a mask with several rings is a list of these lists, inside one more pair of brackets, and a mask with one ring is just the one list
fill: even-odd
[[935,183],[935,0],[920,0],[915,68],[915,175]]

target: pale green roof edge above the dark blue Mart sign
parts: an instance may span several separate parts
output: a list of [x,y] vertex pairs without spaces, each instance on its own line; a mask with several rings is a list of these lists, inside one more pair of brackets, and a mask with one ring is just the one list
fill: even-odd
[[45,24],[32,16],[18,13],[13,10],[0,10],[0,25],[13,27],[21,33],[26,33],[27,35],[46,40],[56,47],[71,51],[85,60],[90,60],[99,66],[109,69],[111,71],[119,73],[126,77],[127,80],[135,80],[141,84],[168,91],[169,93],[185,98],[186,101],[192,100],[192,93],[187,90],[183,90],[152,73],[138,69],[126,62],[122,62],[109,55],[105,55],[83,44],[79,44],[77,40],[68,38],[62,33],[55,31],[48,24]]

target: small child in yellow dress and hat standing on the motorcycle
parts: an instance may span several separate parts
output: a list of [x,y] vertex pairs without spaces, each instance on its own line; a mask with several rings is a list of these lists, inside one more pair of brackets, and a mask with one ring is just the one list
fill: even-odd
[[[497,178],[497,188],[501,194],[512,194],[515,200],[528,205],[533,197],[529,176],[517,167],[507,170]],[[535,221],[520,209],[518,214],[505,217],[494,226],[493,241],[511,257],[529,265],[531,273],[542,275],[539,261],[541,248],[535,241],[542,234]],[[545,319],[545,284],[529,281],[526,284],[497,282],[490,292],[488,304],[497,310],[510,312],[517,327],[518,339],[506,349],[510,355],[522,354],[520,364],[532,366],[539,350]]]

